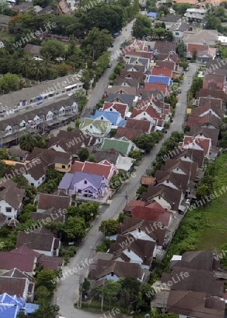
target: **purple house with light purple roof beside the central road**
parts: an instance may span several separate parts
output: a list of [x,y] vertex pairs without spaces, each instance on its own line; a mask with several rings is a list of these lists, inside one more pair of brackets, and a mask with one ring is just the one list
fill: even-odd
[[108,190],[108,181],[103,175],[93,175],[87,172],[66,173],[61,179],[59,189],[66,194],[76,194],[85,198],[99,199]]

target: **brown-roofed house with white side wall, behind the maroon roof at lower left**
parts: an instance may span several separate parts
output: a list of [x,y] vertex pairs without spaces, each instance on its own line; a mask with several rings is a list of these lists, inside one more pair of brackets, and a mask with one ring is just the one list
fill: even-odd
[[58,257],[61,241],[47,228],[40,226],[32,232],[19,231],[16,247],[18,248],[21,245],[26,245],[40,254]]

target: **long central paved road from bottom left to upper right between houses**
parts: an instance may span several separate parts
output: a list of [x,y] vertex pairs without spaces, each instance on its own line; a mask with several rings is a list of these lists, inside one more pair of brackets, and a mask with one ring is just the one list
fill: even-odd
[[[195,74],[197,70],[196,64],[190,64],[190,69],[188,73],[185,73],[185,80],[181,86],[182,93],[179,95],[180,99],[178,105],[176,107],[176,115],[173,119],[173,123],[171,124],[171,128],[168,130],[168,133],[164,136],[164,138],[168,138],[172,131],[182,131],[182,124],[185,119],[185,112],[187,107],[186,94],[188,89],[190,88],[190,84],[192,83],[192,76]],[[190,83],[188,83],[190,81]],[[102,82],[103,83],[103,82]],[[100,86],[102,87],[102,83]],[[101,242],[103,235],[99,232],[99,225],[102,220],[107,220],[109,218],[116,218],[118,213],[123,211],[123,208],[126,204],[125,195],[128,196],[128,201],[133,199],[135,196],[136,189],[140,186],[140,178],[145,174],[147,168],[152,165],[152,162],[155,160],[155,156],[157,155],[159,149],[161,148],[161,143],[154,147],[154,149],[149,153],[149,155],[145,156],[142,161],[142,164],[137,167],[135,172],[135,177],[132,177],[121,190],[116,194],[114,200],[111,202],[109,208],[102,213],[97,220],[95,220],[92,229],[89,234],[85,237],[85,240],[81,243],[77,254],[70,261],[68,269],[73,269],[74,267],[78,268],[78,264],[85,264],[85,259],[92,259],[94,250],[93,248],[99,242]],[[63,269],[63,272],[66,269]],[[63,317],[67,318],[90,318],[90,317],[100,317],[100,315],[90,314],[88,312],[81,312],[81,310],[75,309],[73,304],[78,302],[79,298],[79,281],[85,276],[87,273],[88,267],[86,269],[82,269],[75,274],[69,274],[68,278],[63,281],[60,281],[58,285],[58,290],[54,295],[54,302],[56,302],[61,310],[60,313]],[[80,276],[81,275],[81,276]]]

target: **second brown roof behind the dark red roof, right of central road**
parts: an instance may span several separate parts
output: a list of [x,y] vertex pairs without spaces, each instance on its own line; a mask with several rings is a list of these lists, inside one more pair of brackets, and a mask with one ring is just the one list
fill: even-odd
[[[155,177],[157,184],[162,184],[162,182],[164,182],[166,187],[171,188],[173,184],[177,189],[182,190],[183,193],[188,189],[189,175],[181,175],[180,173],[172,171],[157,170]],[[157,187],[159,186],[157,185]]]

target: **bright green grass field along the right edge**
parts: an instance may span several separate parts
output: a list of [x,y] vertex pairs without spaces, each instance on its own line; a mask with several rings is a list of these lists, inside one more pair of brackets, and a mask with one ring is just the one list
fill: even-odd
[[204,218],[207,219],[207,225],[200,232],[197,250],[213,251],[227,242],[227,189],[226,192],[221,189],[223,185],[227,187],[227,153],[220,155],[216,164],[218,173],[214,187],[218,197],[204,210],[198,209],[198,212],[202,211]]

